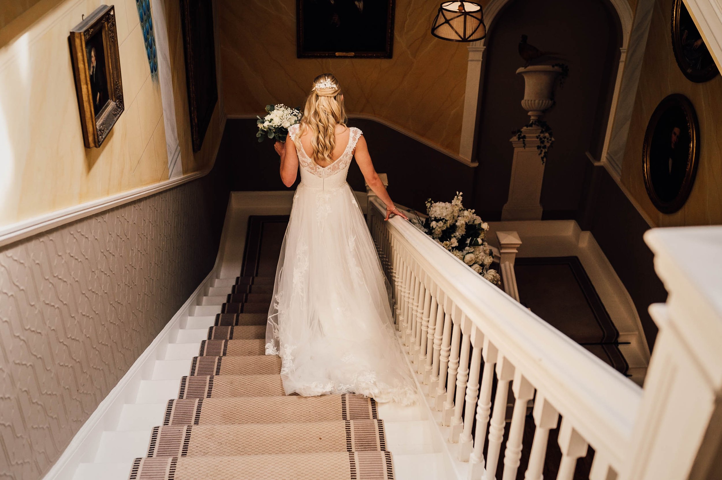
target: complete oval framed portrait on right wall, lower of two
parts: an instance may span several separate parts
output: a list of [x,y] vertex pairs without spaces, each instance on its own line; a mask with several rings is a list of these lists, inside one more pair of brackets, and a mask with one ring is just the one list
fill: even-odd
[[673,94],[659,102],[644,136],[644,185],[652,203],[665,214],[678,211],[695,183],[700,127],[692,102]]

